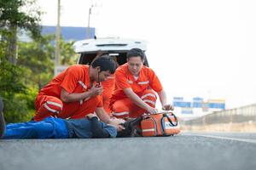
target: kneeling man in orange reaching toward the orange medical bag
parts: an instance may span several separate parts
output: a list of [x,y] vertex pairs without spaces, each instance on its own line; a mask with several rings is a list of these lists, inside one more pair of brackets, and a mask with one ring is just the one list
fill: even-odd
[[160,80],[152,69],[143,65],[144,57],[143,50],[132,48],[127,53],[127,63],[116,70],[115,89],[110,99],[113,116],[127,118],[157,113],[154,91],[163,109],[173,110],[172,105],[166,104],[166,92]]

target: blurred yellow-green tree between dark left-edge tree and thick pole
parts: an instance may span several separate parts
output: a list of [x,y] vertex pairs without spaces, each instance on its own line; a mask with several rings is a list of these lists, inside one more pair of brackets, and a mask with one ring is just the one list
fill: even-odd
[[26,67],[26,84],[41,89],[53,77],[54,36],[44,36],[32,42],[19,42],[17,65]]

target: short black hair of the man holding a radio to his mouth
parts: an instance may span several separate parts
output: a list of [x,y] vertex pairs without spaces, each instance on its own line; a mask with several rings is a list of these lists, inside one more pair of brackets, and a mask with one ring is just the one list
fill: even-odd
[[115,62],[113,59],[110,59],[108,55],[102,55],[101,57],[95,59],[91,63],[91,66],[92,68],[99,66],[101,71],[109,71],[111,74],[113,74],[116,69]]

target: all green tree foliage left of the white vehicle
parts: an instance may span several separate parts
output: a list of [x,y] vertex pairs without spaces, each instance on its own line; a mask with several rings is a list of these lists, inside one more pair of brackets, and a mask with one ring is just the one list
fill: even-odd
[[[35,114],[34,102],[54,73],[54,35],[42,36],[42,12],[35,0],[0,0],[0,96],[7,122],[26,122]],[[18,42],[19,31],[30,42]],[[61,39],[61,64],[75,64],[73,42]]]

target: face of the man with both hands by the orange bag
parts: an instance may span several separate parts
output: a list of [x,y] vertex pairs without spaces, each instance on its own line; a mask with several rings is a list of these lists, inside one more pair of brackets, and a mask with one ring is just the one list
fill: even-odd
[[137,75],[141,69],[143,68],[143,60],[140,56],[137,57],[131,57],[130,59],[127,59],[128,63],[128,69],[131,71],[131,74]]

